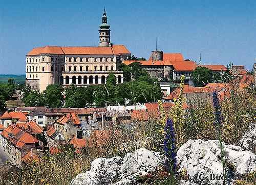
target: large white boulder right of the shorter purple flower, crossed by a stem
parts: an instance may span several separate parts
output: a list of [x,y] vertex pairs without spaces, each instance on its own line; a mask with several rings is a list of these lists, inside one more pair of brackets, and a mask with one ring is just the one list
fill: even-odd
[[[225,145],[230,179],[256,170],[256,155],[234,145]],[[218,140],[189,140],[177,152],[180,184],[222,184],[223,172]]]

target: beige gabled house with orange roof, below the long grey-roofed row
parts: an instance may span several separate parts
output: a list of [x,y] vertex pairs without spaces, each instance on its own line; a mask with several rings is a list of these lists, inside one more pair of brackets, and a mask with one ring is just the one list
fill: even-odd
[[66,140],[77,137],[81,131],[81,122],[76,113],[68,113],[55,121],[54,127]]

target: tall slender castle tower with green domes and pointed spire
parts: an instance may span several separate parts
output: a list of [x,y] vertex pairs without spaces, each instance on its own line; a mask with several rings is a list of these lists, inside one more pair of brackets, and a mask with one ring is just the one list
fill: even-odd
[[102,24],[99,25],[99,47],[109,47],[110,43],[110,25],[107,22],[106,11],[104,8]]

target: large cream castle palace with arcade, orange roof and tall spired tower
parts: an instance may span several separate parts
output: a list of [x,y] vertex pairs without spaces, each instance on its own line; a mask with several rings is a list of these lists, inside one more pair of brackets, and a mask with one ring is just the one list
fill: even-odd
[[88,86],[105,84],[112,72],[117,83],[123,83],[120,64],[131,52],[110,40],[110,25],[104,9],[99,25],[98,46],[43,46],[26,55],[26,85],[42,92],[48,85]]

